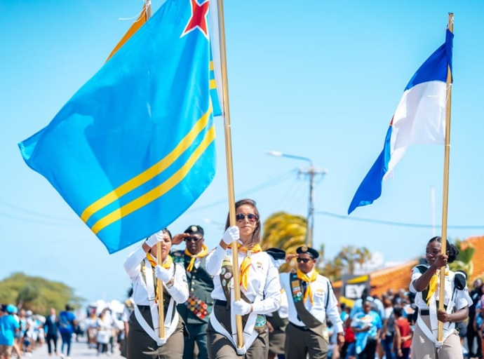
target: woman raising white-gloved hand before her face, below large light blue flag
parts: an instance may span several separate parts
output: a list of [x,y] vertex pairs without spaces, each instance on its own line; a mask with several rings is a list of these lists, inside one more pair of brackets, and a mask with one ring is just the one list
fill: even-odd
[[[156,264],[156,245],[161,243],[162,265]],[[133,282],[134,311],[130,316],[128,358],[182,358],[184,323],[176,304],[188,299],[187,276],[170,257],[171,233],[163,229],[147,238],[124,262]],[[165,337],[159,337],[159,309],[156,278],[163,283]]]

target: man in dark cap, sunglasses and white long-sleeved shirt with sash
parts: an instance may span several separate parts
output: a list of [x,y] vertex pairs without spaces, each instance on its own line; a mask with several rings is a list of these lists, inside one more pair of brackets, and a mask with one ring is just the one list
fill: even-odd
[[302,245],[296,252],[297,271],[281,273],[281,286],[289,304],[285,357],[305,359],[309,354],[309,358],[326,358],[329,339],[326,318],[335,326],[339,348],[344,344],[338,302],[330,280],[314,269],[318,251]]

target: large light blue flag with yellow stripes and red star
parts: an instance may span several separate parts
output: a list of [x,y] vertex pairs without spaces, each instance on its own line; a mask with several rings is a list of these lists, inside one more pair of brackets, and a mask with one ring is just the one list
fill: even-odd
[[208,1],[168,0],[20,142],[109,253],[171,224],[215,175]]

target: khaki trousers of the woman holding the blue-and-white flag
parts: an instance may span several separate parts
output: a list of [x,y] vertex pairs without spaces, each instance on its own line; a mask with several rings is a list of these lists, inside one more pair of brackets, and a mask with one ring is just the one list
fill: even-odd
[[[419,314],[420,315],[420,314]],[[424,323],[430,329],[429,316],[422,316]],[[445,341],[441,348],[437,349],[435,344],[426,337],[418,325],[415,325],[412,346],[410,348],[412,359],[463,359],[462,346],[459,334],[454,330]]]

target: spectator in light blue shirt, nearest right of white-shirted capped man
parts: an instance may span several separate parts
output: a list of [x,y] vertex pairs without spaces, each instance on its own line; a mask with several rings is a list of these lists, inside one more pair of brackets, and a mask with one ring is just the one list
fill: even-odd
[[363,311],[356,313],[351,329],[356,337],[356,358],[375,359],[375,351],[382,330],[382,318],[371,310],[371,302],[363,301]]

